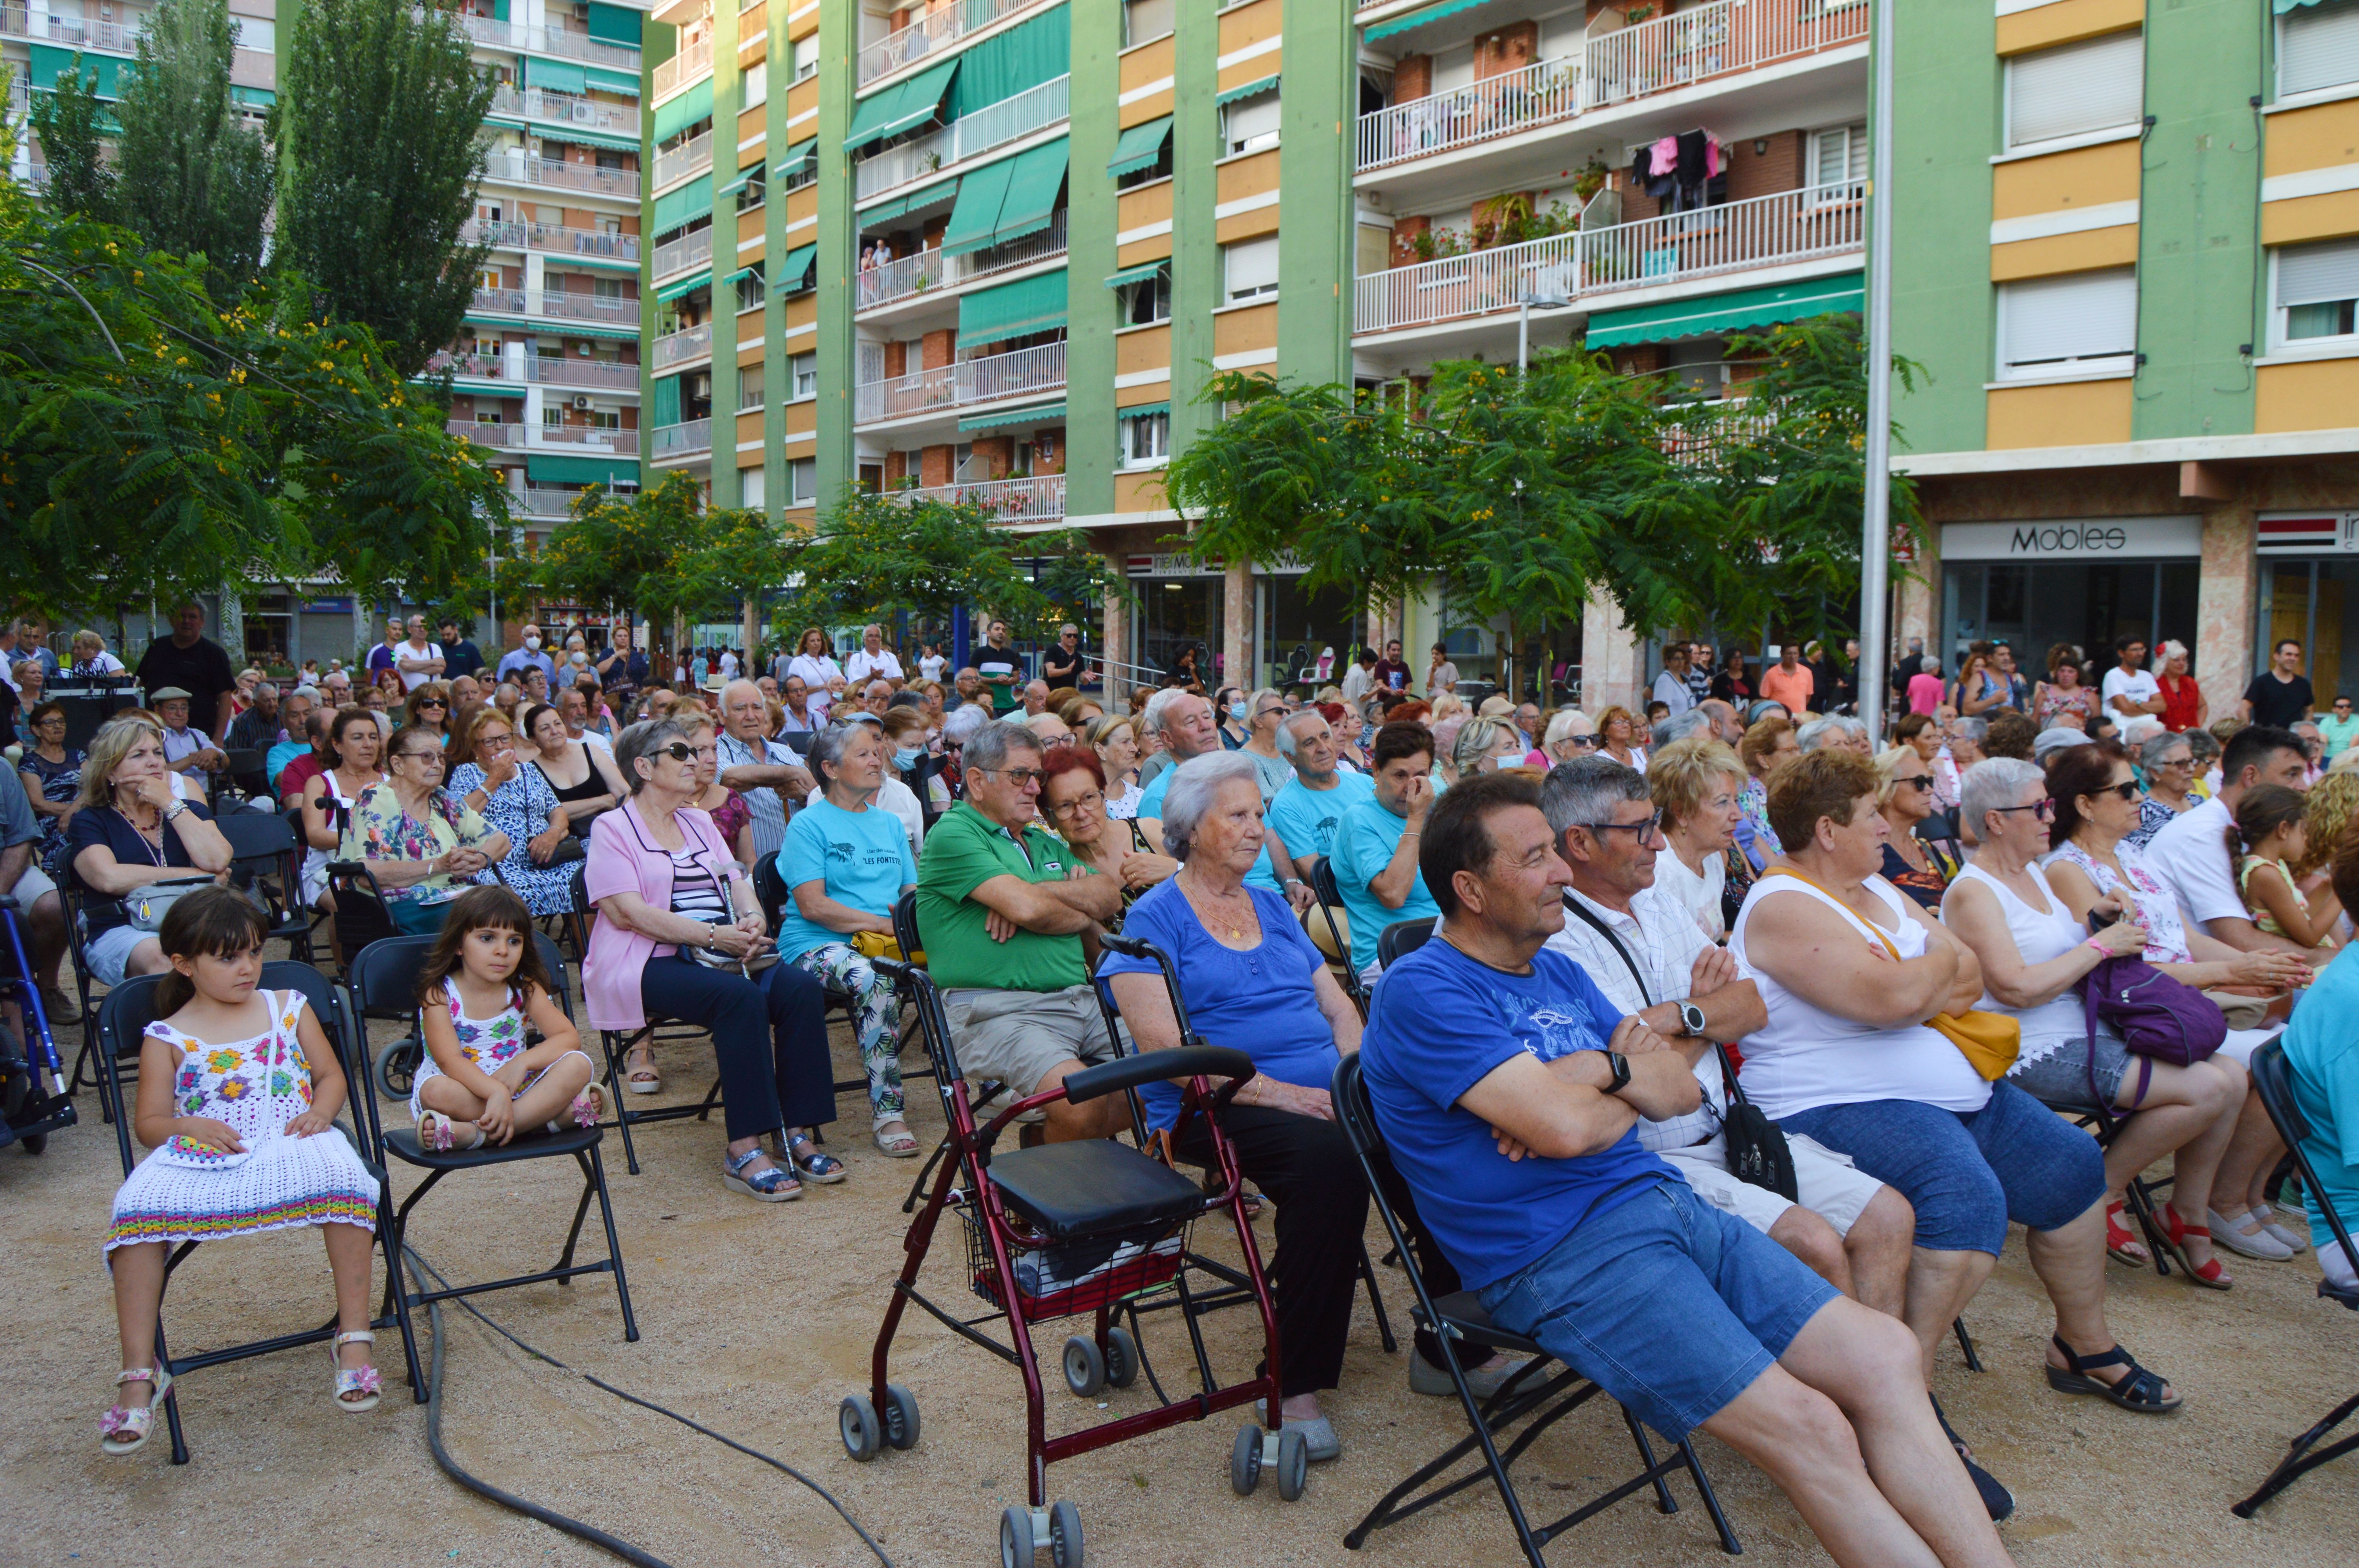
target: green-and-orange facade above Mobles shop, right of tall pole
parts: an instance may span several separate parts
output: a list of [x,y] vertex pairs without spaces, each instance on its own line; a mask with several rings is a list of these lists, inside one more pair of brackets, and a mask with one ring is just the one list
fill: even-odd
[[1894,68],[1901,630],[2352,693],[2359,0],[1906,7]]

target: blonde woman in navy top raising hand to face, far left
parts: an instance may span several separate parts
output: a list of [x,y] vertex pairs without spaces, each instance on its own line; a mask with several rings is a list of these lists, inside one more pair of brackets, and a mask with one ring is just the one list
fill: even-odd
[[151,882],[222,872],[229,858],[212,816],[172,795],[160,729],[113,719],[90,738],[80,809],[66,825],[66,865],[83,891],[92,981],[120,986],[125,976],[170,969],[156,934],[132,924],[123,898]]

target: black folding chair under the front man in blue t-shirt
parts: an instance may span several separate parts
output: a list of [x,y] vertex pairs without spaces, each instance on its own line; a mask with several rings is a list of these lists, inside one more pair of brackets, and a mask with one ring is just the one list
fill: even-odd
[[[1389,936],[1392,931],[1399,931],[1401,924],[1430,927],[1432,922],[1397,922],[1387,927],[1385,934]],[[1696,1460],[1694,1445],[1687,1438],[1680,1438],[1673,1457],[1656,1460],[1654,1443],[1647,1441],[1647,1431],[1637,1424],[1637,1417],[1618,1403],[1616,1410],[1621,1410],[1623,1427],[1630,1429],[1630,1443],[1637,1448],[1637,1457],[1644,1469],[1621,1485],[1599,1493],[1564,1518],[1533,1528],[1533,1523],[1524,1516],[1524,1502],[1514,1493],[1507,1467],[1512,1467],[1543,1431],[1585,1405],[1590,1398],[1604,1394],[1604,1389],[1573,1368],[1555,1361],[1555,1356],[1550,1356],[1536,1339],[1510,1335],[1491,1323],[1491,1316],[1481,1309],[1481,1302],[1472,1290],[1460,1290],[1441,1297],[1439,1302],[1425,1290],[1425,1276],[1418,1271],[1415,1252],[1408,1250],[1408,1236],[1401,1231],[1399,1217],[1392,1212],[1392,1205],[1385,1203],[1385,1188],[1375,1179],[1375,1160],[1385,1153],[1385,1134],[1378,1129],[1375,1113],[1368,1106],[1368,1087],[1361,1082],[1361,1061],[1356,1054],[1345,1056],[1335,1066],[1335,1082],[1330,1092],[1335,1099],[1335,1120],[1352,1139],[1352,1153],[1359,1155],[1359,1167],[1368,1181],[1368,1195],[1375,1200],[1375,1212],[1385,1219],[1385,1231],[1392,1236],[1392,1245],[1401,1254],[1401,1269],[1408,1273],[1411,1290],[1418,1292],[1418,1304],[1411,1311],[1415,1320],[1422,1327],[1430,1327],[1434,1339],[1441,1342],[1444,1368],[1451,1375],[1451,1384],[1458,1389],[1458,1403],[1467,1417],[1467,1436],[1458,1438],[1458,1443],[1441,1450],[1441,1455],[1430,1464],[1420,1467],[1397,1488],[1385,1493],[1378,1504],[1368,1509],[1366,1518],[1352,1526],[1352,1533],[1342,1537],[1342,1544],[1356,1551],[1371,1533],[1401,1523],[1404,1518],[1411,1518],[1446,1497],[1456,1497],[1470,1485],[1481,1485],[1489,1476],[1498,1488],[1500,1502],[1507,1507],[1507,1521],[1514,1526],[1517,1544],[1522,1544],[1531,1568],[1548,1568],[1548,1559],[1540,1556],[1540,1549],[1550,1540],[1571,1530],[1583,1518],[1614,1507],[1640,1488],[1654,1488],[1656,1511],[1677,1514],[1680,1504],[1673,1500],[1663,1478],[1684,1469],[1694,1476],[1696,1490],[1703,1495],[1703,1509],[1713,1516],[1713,1528],[1720,1530],[1720,1549],[1732,1556],[1741,1554],[1743,1547],[1739,1547],[1727,1516],[1720,1511],[1720,1500],[1713,1495],[1713,1483],[1703,1474],[1703,1462]],[[1517,1370],[1514,1377],[1500,1384],[1498,1394],[1477,1403],[1474,1391],[1467,1386],[1465,1368],[1458,1365],[1460,1339],[1496,1344],[1503,1351],[1514,1351],[1519,1356],[1529,1356],[1531,1361]],[[1550,1375],[1550,1365],[1555,1365],[1557,1372]],[[1510,1429],[1517,1424],[1524,1429],[1507,1441],[1505,1448],[1500,1448],[1500,1441],[1505,1441]],[[1441,1481],[1446,1471],[1477,1450],[1481,1450],[1481,1464],[1477,1469],[1453,1481]]]

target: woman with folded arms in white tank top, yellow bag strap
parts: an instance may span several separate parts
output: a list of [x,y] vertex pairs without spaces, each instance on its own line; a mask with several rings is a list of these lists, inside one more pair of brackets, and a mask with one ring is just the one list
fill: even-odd
[[[1989,766],[1989,764],[1984,764]],[[2104,1155],[1932,1021],[1982,997],[1972,948],[1890,887],[1875,766],[1812,752],[1769,788],[1786,861],[1746,896],[1729,953],[1769,1023],[1746,1035],[1739,1082],[1786,1132],[1852,1155],[1916,1210],[1904,1318],[1932,1349],[1998,1264],[2008,1224],[2055,1304],[2048,1384],[2158,1415],[2180,1396],[2104,1320]]]

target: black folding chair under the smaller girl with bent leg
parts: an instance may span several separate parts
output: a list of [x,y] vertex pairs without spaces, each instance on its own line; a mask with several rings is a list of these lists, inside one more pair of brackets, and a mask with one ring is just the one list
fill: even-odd
[[[394,1016],[399,1009],[408,1009],[408,1016],[418,1019],[418,974],[425,969],[427,953],[434,950],[432,936],[394,936],[392,941],[370,943],[351,960],[351,1012],[356,1016]],[[557,1004],[566,1009],[566,1019],[573,1016],[573,997],[566,988],[566,962],[557,953],[545,934],[533,931],[533,941],[540,946],[540,962],[550,967],[550,979],[557,988]],[[418,1026],[422,1028],[422,1026]],[[488,1290],[512,1290],[517,1285],[538,1285],[543,1280],[557,1280],[566,1285],[578,1273],[611,1273],[616,1297],[623,1302],[623,1339],[639,1337],[639,1323],[630,1313],[630,1280],[623,1276],[623,1243],[613,1228],[613,1198],[606,1193],[606,1165],[599,1158],[599,1144],[604,1132],[599,1127],[564,1127],[559,1132],[524,1129],[502,1144],[484,1144],[479,1148],[427,1148],[418,1139],[415,1127],[385,1127],[377,1118],[377,1106],[368,1106],[370,1134],[377,1148],[401,1160],[403,1165],[415,1165],[427,1172],[427,1179],[418,1184],[401,1207],[394,1212],[394,1243],[392,1257],[396,1269],[401,1269],[401,1254],[408,1240],[410,1210],[434,1191],[434,1184],[451,1172],[486,1170],[491,1165],[514,1165],[519,1160],[564,1160],[571,1158],[583,1172],[583,1195],[573,1205],[573,1228],[566,1231],[566,1247],[557,1254],[557,1264],[540,1269],[535,1273],[517,1273],[505,1280],[488,1280],[481,1285],[443,1285],[441,1290],[425,1290],[422,1280],[418,1290],[410,1290],[406,1273],[396,1273],[389,1280],[389,1290],[401,1292],[403,1313],[429,1302],[448,1302],[453,1297],[484,1294]],[[606,1257],[594,1264],[576,1264],[573,1247],[580,1243],[583,1221],[590,1217],[590,1200],[597,1198],[599,1219],[606,1224]],[[418,1363],[418,1346],[403,1342],[403,1351],[410,1361],[410,1389],[418,1403],[427,1401],[427,1375]]]

